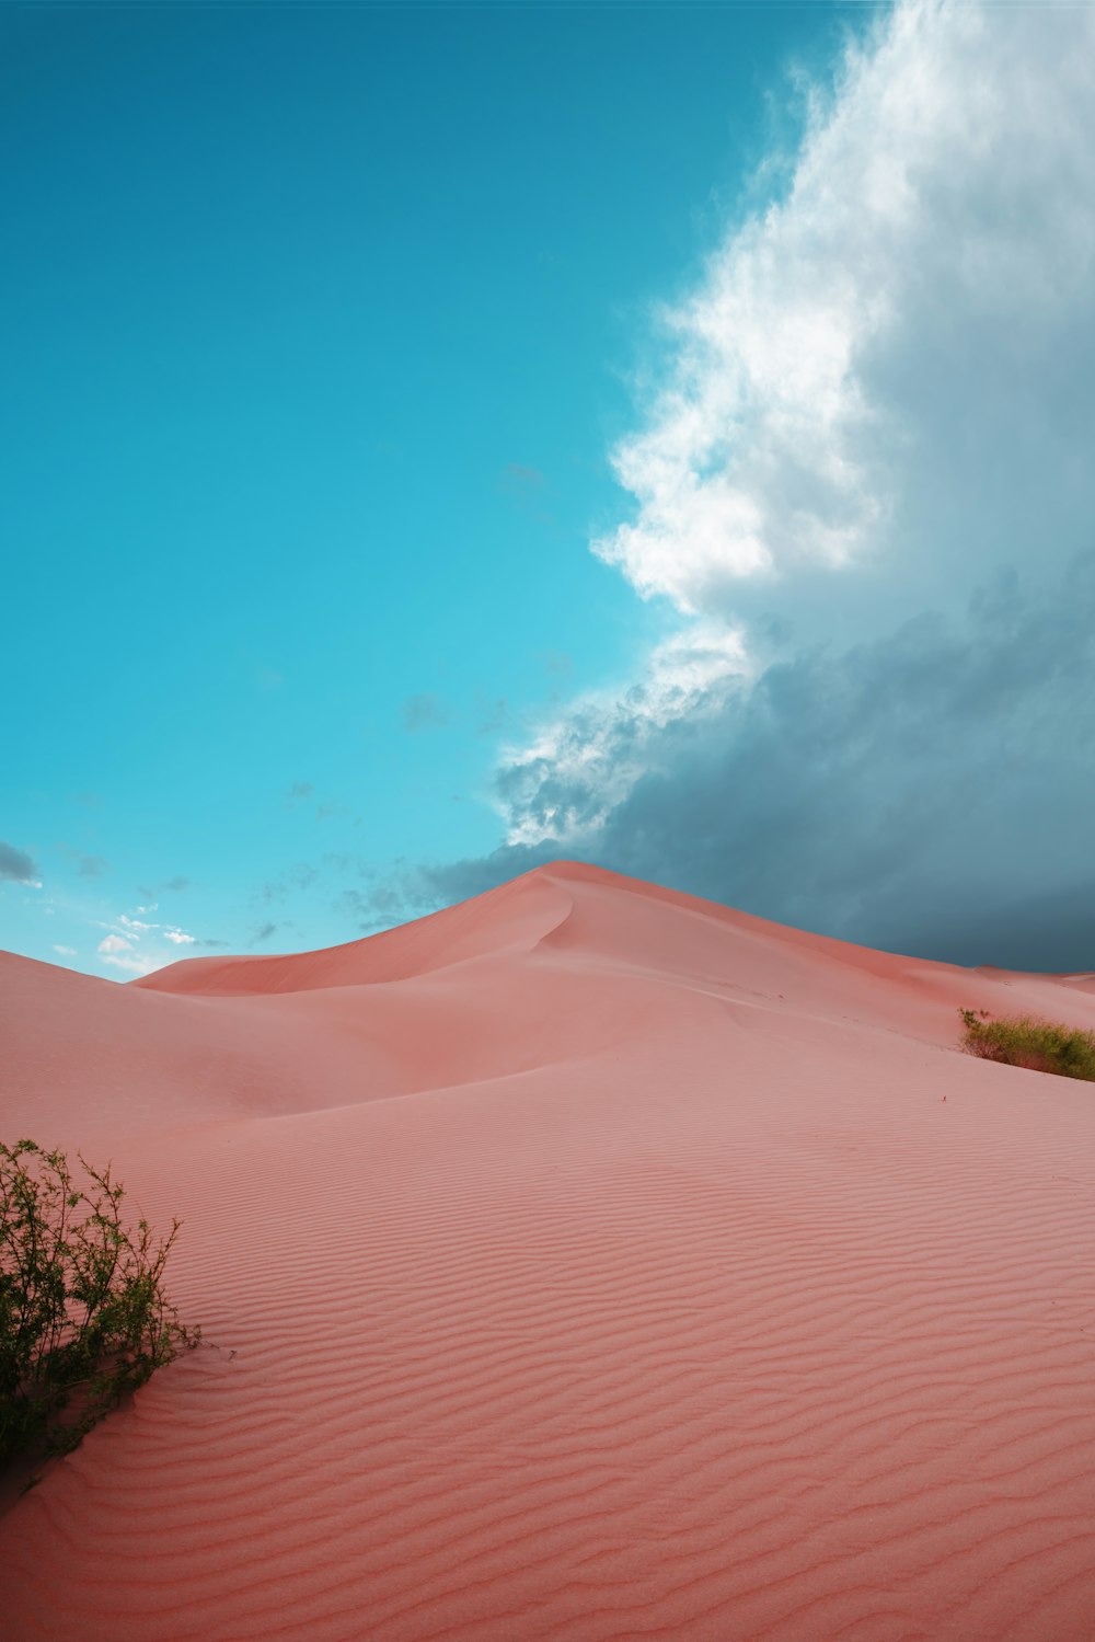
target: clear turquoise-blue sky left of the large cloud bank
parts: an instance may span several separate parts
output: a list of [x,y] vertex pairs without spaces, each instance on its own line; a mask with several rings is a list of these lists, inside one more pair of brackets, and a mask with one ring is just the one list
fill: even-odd
[[323,854],[284,933],[348,938],[343,878],[489,847],[502,726],[657,626],[586,550],[637,315],[834,15],[2,26],[3,939],[97,969],[154,898],[243,946]]

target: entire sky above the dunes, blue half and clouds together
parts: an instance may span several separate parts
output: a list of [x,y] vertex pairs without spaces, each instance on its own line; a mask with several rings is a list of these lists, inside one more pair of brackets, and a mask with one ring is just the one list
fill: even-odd
[[7,7],[0,136],[2,946],[1095,969],[1095,8]]

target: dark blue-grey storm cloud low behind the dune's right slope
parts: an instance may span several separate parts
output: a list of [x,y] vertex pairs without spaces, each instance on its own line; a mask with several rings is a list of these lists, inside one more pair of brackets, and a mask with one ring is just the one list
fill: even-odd
[[[648,773],[602,826],[420,869],[404,910],[575,855],[868,946],[1095,969],[1093,635],[1085,557],[1049,586],[998,576],[965,622],[778,663],[647,739]],[[624,755],[639,726],[612,734]],[[517,819],[593,801],[545,768]]]

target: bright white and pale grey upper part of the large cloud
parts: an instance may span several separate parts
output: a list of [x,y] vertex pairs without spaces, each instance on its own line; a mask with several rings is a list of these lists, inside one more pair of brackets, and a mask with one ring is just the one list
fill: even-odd
[[509,844],[596,839],[773,644],[960,621],[1092,545],[1095,8],[900,0],[808,100],[785,197],[662,314],[635,512],[593,544],[690,626],[504,752]]

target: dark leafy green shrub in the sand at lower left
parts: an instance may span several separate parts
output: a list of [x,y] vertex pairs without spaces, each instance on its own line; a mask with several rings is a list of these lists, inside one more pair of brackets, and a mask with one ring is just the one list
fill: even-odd
[[123,1187],[31,1140],[0,1143],[0,1465],[69,1453],[200,1330],[161,1287],[179,1232],[121,1218]]

